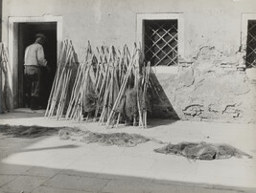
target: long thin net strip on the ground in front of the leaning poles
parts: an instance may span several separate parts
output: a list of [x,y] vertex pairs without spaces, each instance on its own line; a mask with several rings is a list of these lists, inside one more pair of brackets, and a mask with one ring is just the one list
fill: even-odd
[[99,143],[101,145],[118,145],[125,147],[133,147],[140,143],[148,141],[163,143],[160,140],[146,138],[139,134],[128,134],[128,133],[97,133],[91,131],[81,131],[76,128],[64,128],[59,130],[58,136],[60,139],[73,139],[80,140],[86,143]]

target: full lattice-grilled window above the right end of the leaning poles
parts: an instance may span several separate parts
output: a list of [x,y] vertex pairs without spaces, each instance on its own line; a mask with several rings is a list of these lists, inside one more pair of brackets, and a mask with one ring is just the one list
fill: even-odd
[[151,66],[178,64],[177,19],[144,21],[145,59]]

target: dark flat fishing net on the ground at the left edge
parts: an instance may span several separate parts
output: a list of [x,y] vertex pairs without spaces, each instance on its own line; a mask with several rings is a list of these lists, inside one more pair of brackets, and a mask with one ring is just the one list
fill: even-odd
[[12,138],[38,138],[58,134],[59,128],[41,126],[0,125],[0,133]]

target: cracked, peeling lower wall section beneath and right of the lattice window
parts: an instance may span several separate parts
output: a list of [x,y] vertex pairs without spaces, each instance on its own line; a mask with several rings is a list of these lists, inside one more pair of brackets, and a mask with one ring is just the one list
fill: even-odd
[[240,71],[239,60],[240,53],[202,47],[191,64],[179,65],[177,75],[154,74],[173,105],[170,111],[166,100],[154,105],[158,115],[174,117],[175,111],[181,119],[255,122],[256,69]]

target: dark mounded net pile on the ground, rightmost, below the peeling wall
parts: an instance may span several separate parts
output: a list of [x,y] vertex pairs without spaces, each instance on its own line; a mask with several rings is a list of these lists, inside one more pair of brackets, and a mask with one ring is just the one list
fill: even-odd
[[251,159],[252,157],[243,151],[227,144],[211,144],[206,142],[180,142],[165,145],[154,149],[154,152],[162,154],[174,154],[193,160],[221,160],[231,157]]

